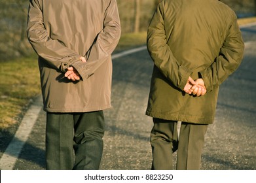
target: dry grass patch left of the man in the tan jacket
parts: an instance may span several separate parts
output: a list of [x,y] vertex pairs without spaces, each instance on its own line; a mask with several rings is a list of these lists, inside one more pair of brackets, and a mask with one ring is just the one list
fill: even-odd
[[22,58],[0,66],[0,129],[18,122],[29,101],[40,93],[36,58]]

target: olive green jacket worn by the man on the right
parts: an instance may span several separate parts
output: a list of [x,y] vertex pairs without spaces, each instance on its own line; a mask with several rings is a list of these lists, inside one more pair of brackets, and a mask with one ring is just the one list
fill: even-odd
[[[212,124],[219,86],[244,54],[236,14],[217,0],[164,0],[149,25],[147,48],[155,65],[146,114]],[[189,76],[204,80],[206,95],[183,92]]]

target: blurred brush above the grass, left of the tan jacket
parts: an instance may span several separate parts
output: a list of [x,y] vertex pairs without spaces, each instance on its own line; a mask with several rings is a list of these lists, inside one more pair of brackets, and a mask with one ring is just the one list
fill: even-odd
[[0,61],[31,54],[26,39],[26,0],[1,0],[0,2]]

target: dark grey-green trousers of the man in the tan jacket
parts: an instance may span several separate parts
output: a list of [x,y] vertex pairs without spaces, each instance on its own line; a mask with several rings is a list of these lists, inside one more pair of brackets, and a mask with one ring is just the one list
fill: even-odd
[[99,169],[103,111],[46,115],[46,169]]

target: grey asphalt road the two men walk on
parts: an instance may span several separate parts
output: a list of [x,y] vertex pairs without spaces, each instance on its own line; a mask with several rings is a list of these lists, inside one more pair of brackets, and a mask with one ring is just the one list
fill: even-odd
[[[221,86],[215,122],[206,133],[201,169],[256,169],[256,25],[242,28],[242,33],[244,61]],[[153,123],[145,116],[145,108],[152,69],[147,50],[113,60],[113,108],[105,110],[100,169],[151,168]],[[6,144],[0,147],[6,148]],[[45,112],[39,113],[13,169],[45,169]]]

